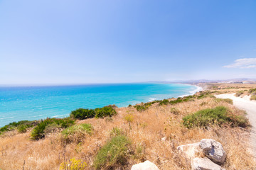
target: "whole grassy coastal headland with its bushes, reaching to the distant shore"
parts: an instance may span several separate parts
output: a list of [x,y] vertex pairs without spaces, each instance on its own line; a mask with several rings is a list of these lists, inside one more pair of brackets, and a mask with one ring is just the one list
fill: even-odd
[[256,85],[197,85],[205,90],[191,96],[10,125],[1,129],[0,169],[131,169],[146,160],[159,169],[191,169],[177,147],[202,139],[223,145],[224,169],[255,169],[253,115],[237,108],[235,99],[215,96],[242,91],[251,97]]

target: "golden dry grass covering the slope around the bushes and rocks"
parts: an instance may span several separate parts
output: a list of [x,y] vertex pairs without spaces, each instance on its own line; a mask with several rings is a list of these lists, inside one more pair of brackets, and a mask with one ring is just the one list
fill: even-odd
[[[222,128],[213,126],[208,130],[188,130],[183,127],[183,116],[216,106],[225,106],[235,115],[243,114],[243,111],[225,101],[203,98],[174,106],[154,104],[142,112],[133,107],[117,108],[118,114],[112,118],[80,120],[78,124],[92,124],[94,132],[79,144],[63,145],[60,132],[38,141],[30,140],[30,132],[9,132],[0,138],[0,169],[23,169],[23,166],[25,169],[59,169],[64,157],[82,159],[87,163],[86,169],[92,169],[95,155],[110,139],[110,132],[116,127],[122,128],[132,140],[134,150],[139,150],[139,153],[135,152],[135,157],[129,159],[125,169],[144,160],[154,162],[159,169],[190,169],[188,160],[178,154],[176,147],[199,142],[203,138],[212,138],[223,145],[228,154],[225,169],[255,169],[255,160],[247,150],[248,129],[230,128],[228,125]],[[172,113],[174,108],[178,113]]]

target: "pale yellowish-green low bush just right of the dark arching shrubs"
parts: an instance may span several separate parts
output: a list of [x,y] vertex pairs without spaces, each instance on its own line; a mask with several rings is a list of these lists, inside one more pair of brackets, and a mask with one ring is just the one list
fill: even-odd
[[83,123],[80,125],[73,125],[61,132],[63,135],[63,142],[82,142],[86,134],[92,134],[92,130],[93,128],[91,124]]

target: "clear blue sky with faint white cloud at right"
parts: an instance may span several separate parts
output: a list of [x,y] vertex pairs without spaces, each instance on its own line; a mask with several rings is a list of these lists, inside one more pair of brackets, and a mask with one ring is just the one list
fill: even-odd
[[255,0],[0,0],[0,84],[242,77]]

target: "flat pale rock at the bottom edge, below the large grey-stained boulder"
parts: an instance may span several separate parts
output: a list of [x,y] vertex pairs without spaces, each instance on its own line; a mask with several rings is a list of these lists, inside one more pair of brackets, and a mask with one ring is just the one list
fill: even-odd
[[192,170],[225,170],[218,164],[214,164],[208,158],[194,158],[191,162]]

